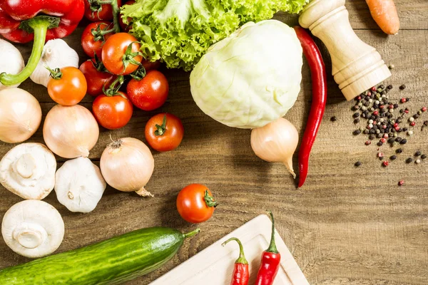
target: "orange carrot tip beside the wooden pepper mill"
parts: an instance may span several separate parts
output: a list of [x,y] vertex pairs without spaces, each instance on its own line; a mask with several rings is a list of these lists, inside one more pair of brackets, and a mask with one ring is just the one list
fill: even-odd
[[370,14],[382,31],[389,35],[398,33],[399,18],[394,0],[366,0]]

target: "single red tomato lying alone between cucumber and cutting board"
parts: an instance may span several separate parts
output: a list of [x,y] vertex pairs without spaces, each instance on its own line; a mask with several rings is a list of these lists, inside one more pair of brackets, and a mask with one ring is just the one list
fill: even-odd
[[178,213],[187,222],[205,222],[213,216],[216,206],[217,202],[205,185],[190,184],[178,193]]

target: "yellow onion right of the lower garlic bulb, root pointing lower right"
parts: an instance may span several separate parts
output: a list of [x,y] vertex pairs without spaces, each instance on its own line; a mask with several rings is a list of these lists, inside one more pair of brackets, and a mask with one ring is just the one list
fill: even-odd
[[155,167],[150,149],[136,138],[121,138],[106,147],[101,155],[101,173],[107,184],[122,192],[153,196],[144,187]]

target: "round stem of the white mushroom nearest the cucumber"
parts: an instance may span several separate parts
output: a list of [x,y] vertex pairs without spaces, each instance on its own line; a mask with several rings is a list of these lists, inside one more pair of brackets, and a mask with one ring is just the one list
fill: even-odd
[[26,249],[35,249],[43,244],[47,237],[46,230],[39,224],[22,223],[14,229],[12,237]]

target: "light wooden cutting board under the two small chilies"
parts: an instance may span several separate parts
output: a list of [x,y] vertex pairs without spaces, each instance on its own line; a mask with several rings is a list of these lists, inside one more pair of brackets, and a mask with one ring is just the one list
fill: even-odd
[[[243,243],[245,257],[250,264],[250,283],[254,284],[260,266],[260,257],[270,242],[271,223],[269,217],[260,215],[231,232],[227,236],[207,247],[202,252],[175,267],[151,285],[229,285],[232,278],[233,264],[239,256],[236,242],[222,247],[230,237],[238,237]],[[275,232],[277,249],[281,254],[281,266],[274,285],[309,285],[295,259]]]

